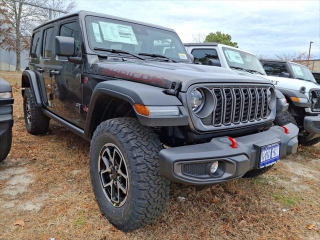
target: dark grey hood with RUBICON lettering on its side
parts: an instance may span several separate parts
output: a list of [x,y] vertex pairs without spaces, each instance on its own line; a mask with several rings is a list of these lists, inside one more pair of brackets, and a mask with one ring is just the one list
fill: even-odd
[[195,83],[270,83],[257,75],[247,75],[229,69],[191,63],[164,61],[115,61],[97,60],[90,65],[97,74],[108,77],[137,81],[169,89],[172,83],[181,84],[181,91]]

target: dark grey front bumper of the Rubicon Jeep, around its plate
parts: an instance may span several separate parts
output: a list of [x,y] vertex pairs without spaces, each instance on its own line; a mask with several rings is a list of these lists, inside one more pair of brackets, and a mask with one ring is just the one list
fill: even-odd
[[[227,137],[216,137],[207,143],[162,149],[160,172],[172,181],[191,185],[210,185],[241,177],[258,167],[261,146],[281,142],[280,159],[296,152],[299,129],[292,123],[285,126],[288,133],[280,126],[272,126],[267,131],[236,137],[236,148],[230,146]],[[216,160],[219,168],[210,174],[210,164]]]

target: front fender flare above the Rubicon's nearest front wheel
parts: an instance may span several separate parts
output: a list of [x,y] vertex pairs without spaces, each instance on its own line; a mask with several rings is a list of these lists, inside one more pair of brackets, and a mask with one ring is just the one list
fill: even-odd
[[[96,84],[92,92],[84,124],[84,137],[87,139],[90,138],[92,131],[91,118],[94,106],[103,94],[130,103],[142,125],[177,126],[188,124],[188,113],[180,100],[174,95],[166,94],[162,88],[127,80],[107,80]],[[177,106],[180,113],[175,116],[145,116],[135,111],[133,107],[135,103],[149,106]]]

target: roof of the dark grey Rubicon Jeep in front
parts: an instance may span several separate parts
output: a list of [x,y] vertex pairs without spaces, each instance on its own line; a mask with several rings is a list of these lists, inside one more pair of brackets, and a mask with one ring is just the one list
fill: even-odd
[[155,24],[151,24],[151,23],[147,23],[147,22],[142,22],[142,21],[131,20],[131,19],[127,19],[127,18],[123,18],[123,17],[119,17],[119,16],[112,16],[112,15],[107,15],[107,14],[103,14],[103,13],[97,13],[97,12],[93,12],[93,11],[83,11],[83,10],[69,12],[69,13],[63,14],[61,16],[58,16],[56,18],[53,18],[51,20],[48,20],[48,21],[36,26],[33,29],[33,31],[35,31],[36,29],[38,29],[41,26],[44,26],[48,23],[55,22],[55,21],[58,21],[58,20],[61,20],[61,19],[64,19],[64,18],[67,18],[70,16],[76,16],[76,15],[79,15],[80,17],[83,17],[83,18],[87,15],[105,17],[105,18],[110,18],[110,19],[114,19],[114,20],[127,21],[127,22],[131,22],[131,23],[141,24],[141,25],[145,25],[145,26],[150,26],[150,27],[155,27],[155,28],[175,32],[172,28],[168,28],[168,27],[164,27],[164,26],[159,26],[159,25],[155,25]]

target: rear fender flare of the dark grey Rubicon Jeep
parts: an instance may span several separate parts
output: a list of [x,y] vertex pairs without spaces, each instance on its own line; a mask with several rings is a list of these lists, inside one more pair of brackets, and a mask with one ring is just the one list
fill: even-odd
[[[39,80],[41,78],[41,81]],[[34,96],[36,106],[43,107],[47,105],[47,97],[42,75],[33,70],[24,70],[21,76],[21,93],[23,96],[24,88],[30,87]]]

